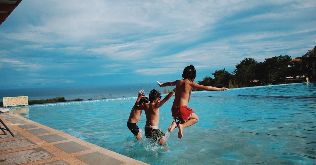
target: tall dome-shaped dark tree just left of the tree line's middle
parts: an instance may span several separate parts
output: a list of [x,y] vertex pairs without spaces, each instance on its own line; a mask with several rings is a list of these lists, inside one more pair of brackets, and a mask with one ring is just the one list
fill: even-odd
[[233,71],[235,81],[239,87],[252,86],[252,80],[256,76],[257,62],[253,58],[245,58],[239,64],[235,65]]

